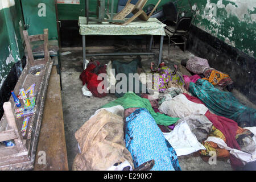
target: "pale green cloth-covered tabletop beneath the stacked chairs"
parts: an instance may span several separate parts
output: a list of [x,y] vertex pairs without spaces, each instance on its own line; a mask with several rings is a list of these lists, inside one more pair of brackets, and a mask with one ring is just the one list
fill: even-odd
[[127,25],[113,24],[109,22],[89,22],[86,17],[79,16],[80,35],[166,35],[166,24],[156,18],[147,21],[134,20]]

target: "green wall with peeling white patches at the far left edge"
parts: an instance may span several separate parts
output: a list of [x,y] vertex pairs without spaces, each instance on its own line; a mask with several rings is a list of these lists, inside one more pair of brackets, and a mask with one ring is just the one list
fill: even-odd
[[23,18],[19,0],[0,1],[0,88],[23,51]]

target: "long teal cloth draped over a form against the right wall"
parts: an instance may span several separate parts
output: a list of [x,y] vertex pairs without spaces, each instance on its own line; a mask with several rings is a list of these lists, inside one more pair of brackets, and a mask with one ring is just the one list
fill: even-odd
[[238,126],[256,126],[256,110],[242,105],[230,92],[214,88],[207,80],[190,82],[189,92],[198,97],[214,114],[233,119]]

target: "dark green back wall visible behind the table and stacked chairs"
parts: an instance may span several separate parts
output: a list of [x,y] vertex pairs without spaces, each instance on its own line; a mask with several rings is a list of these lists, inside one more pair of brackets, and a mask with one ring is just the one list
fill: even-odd
[[[162,0],[159,6],[170,0]],[[106,0],[107,2],[107,0]],[[111,2],[111,0],[110,0]],[[156,4],[158,0],[148,0],[147,4]],[[118,0],[114,0],[114,12],[117,11]],[[89,11],[96,11],[97,0],[89,0]],[[85,16],[85,0],[80,0],[80,5],[58,4],[59,20],[77,20],[79,16]]]

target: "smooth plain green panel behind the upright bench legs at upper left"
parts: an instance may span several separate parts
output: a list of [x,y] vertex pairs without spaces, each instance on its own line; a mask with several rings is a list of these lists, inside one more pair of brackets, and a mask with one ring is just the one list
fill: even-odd
[[43,34],[43,29],[48,28],[49,40],[58,39],[55,1],[22,0],[22,9],[29,24],[28,35]]

